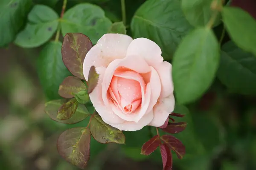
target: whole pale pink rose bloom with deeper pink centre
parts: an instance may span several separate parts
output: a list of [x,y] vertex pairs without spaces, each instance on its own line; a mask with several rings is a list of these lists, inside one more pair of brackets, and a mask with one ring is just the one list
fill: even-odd
[[160,127],[174,110],[172,65],[160,47],[146,38],[105,34],[87,53],[83,69],[91,66],[99,82],[90,100],[102,120],[119,130]]

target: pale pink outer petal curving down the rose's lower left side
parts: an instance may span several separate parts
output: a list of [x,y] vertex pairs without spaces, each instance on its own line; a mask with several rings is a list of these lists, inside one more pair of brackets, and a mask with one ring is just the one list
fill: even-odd
[[125,122],[123,119],[119,118],[115,113],[113,113],[110,106],[106,106],[102,100],[102,79],[104,76],[106,68],[96,68],[97,73],[99,74],[99,82],[96,88],[93,90],[92,93],[89,94],[90,100],[93,103],[93,107],[102,117],[108,122],[111,123],[123,123]]

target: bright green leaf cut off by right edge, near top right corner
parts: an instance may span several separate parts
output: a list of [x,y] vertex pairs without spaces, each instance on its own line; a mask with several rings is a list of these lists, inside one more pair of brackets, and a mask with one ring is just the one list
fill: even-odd
[[256,57],[256,20],[240,8],[224,7],[222,15],[231,39]]

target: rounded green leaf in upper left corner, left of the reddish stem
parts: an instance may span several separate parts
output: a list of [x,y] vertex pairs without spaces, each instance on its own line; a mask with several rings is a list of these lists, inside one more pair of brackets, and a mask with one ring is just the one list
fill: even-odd
[[28,15],[28,23],[15,44],[23,48],[38,47],[47,42],[58,27],[58,14],[48,6],[36,5]]

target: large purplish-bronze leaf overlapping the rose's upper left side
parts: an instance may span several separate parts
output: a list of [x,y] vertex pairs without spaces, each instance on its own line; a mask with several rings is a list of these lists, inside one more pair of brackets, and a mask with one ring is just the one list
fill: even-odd
[[76,77],[84,79],[83,62],[87,52],[93,47],[90,39],[81,33],[67,33],[61,54],[64,65]]

